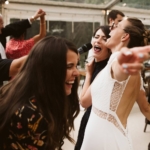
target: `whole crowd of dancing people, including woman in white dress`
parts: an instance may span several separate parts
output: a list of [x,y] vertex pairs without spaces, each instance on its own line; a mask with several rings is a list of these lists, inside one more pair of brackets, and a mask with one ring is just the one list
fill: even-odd
[[[150,120],[141,76],[150,31],[112,10],[108,25],[93,33],[93,59],[78,96],[79,52],[68,39],[46,36],[45,16],[39,9],[5,27],[0,16],[0,149],[62,150],[68,139],[75,150],[133,150],[127,120],[135,102]],[[25,40],[38,18],[39,33]],[[80,105],[86,112],[75,142],[70,133]]]

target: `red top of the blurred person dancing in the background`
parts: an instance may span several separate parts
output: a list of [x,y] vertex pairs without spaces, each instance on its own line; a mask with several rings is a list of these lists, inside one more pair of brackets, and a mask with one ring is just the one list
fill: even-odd
[[16,59],[25,56],[29,53],[34,45],[34,39],[16,40],[11,39],[6,44],[6,55],[9,59]]

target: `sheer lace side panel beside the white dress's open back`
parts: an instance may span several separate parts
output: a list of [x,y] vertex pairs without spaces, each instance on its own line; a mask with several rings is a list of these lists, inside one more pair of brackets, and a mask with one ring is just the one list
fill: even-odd
[[110,100],[110,110],[116,111],[120,98],[122,96],[122,92],[125,88],[126,82],[120,84],[118,82],[114,83],[114,88],[111,93],[111,100]]

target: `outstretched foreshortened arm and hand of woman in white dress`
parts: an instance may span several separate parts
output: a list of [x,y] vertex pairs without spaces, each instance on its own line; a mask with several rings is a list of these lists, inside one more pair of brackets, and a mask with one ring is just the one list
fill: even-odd
[[112,64],[112,77],[118,81],[127,79],[141,71],[143,62],[149,58],[150,46],[122,48]]

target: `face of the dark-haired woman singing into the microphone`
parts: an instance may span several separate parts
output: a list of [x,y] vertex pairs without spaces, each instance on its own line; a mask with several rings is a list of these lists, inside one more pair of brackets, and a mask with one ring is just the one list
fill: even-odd
[[92,38],[93,56],[97,62],[108,58],[110,55],[109,50],[105,45],[106,40],[107,37],[101,29],[99,29]]

